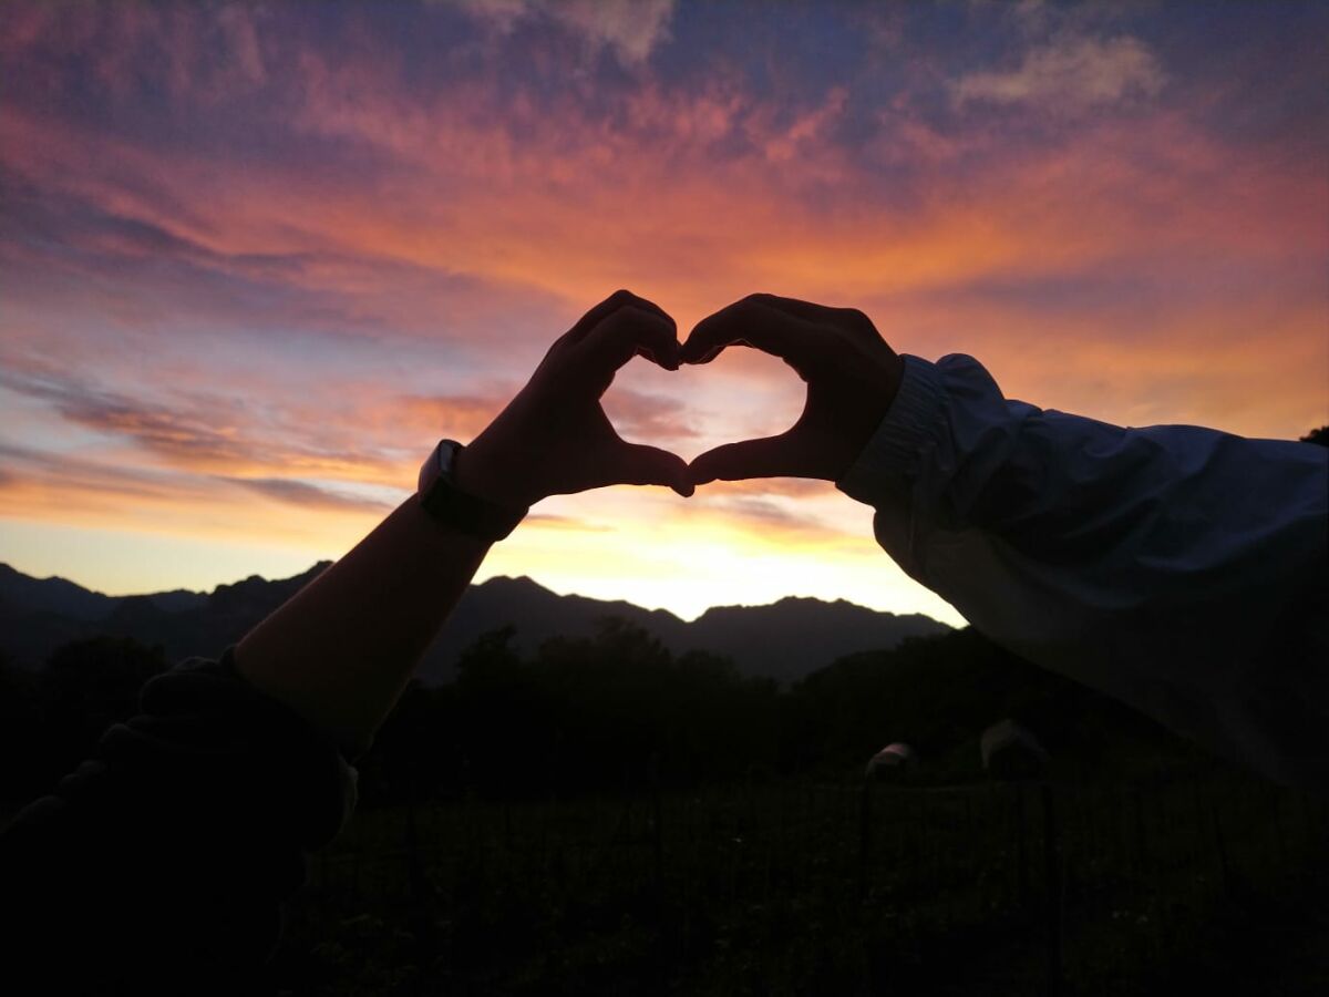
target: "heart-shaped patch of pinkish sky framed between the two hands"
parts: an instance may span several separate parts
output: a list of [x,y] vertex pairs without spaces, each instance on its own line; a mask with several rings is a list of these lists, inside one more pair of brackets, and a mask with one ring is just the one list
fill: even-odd
[[706,364],[667,371],[641,356],[601,404],[618,435],[692,460],[724,443],[775,436],[803,412],[807,386],[773,356],[730,347]]

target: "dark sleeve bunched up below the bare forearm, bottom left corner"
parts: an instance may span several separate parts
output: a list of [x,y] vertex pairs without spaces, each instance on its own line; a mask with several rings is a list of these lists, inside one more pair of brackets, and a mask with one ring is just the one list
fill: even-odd
[[43,992],[251,992],[355,770],[221,661],[149,682],[58,788],[0,833],[11,980]]

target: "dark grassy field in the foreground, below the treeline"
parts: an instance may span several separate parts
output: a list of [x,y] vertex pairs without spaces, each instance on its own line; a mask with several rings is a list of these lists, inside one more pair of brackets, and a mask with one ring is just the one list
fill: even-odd
[[1225,768],[380,808],[314,860],[274,973],[292,994],[1321,994],[1326,832],[1324,799]]

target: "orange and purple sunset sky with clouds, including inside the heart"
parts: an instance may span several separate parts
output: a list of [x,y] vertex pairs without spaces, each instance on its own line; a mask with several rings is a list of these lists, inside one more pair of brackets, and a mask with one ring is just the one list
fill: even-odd
[[[1329,421],[1329,4],[0,4],[0,561],[108,593],[347,550],[618,287],[857,306],[1009,396]],[[629,364],[621,433],[787,428]],[[960,617],[829,484],[540,504],[480,577]]]

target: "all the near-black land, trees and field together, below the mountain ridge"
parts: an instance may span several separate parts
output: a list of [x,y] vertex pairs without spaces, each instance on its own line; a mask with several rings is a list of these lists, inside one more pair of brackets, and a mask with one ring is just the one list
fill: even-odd
[[[278,989],[1329,993],[1329,799],[971,630],[788,689],[615,621],[534,655],[512,635],[412,686],[359,759],[360,811],[291,904]],[[48,792],[165,667],[108,637],[0,667],[0,800]],[[1042,760],[983,768],[1001,718]],[[865,788],[894,740],[922,760]],[[991,778],[1015,772],[1047,782]]]

